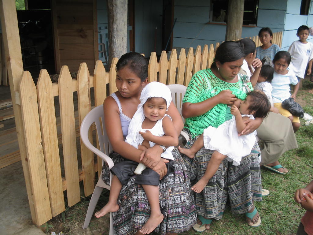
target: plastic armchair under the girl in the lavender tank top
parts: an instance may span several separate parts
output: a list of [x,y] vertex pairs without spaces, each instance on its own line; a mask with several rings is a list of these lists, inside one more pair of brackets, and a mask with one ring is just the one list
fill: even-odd
[[[95,148],[93,144],[90,143],[90,140],[88,138],[88,131],[93,123],[95,123],[96,125],[100,150]],[[87,115],[85,116],[84,120],[80,125],[80,138],[88,149],[90,149],[92,152],[97,154],[102,159],[102,165],[105,161],[109,165],[110,169],[111,167],[114,166],[112,159],[107,155],[112,150],[112,146],[109,142],[109,138],[106,135],[105,131],[103,105],[99,105],[93,108],[89,113],[87,113]],[[111,179],[112,173],[110,172],[110,180]],[[99,200],[103,188],[110,190],[110,185],[107,185],[103,182],[101,178],[101,173],[99,173],[99,180],[95,186],[94,192],[92,193],[83,228],[87,228],[89,226],[91,217],[94,213],[95,207],[97,205],[97,202]],[[114,235],[112,213],[110,213],[109,234]]]

